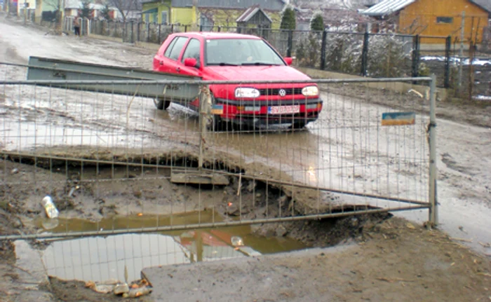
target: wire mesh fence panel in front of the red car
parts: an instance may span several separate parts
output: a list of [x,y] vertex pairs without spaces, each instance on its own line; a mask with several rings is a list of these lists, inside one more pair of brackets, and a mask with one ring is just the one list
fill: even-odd
[[[137,278],[145,266],[278,251],[252,231],[261,224],[435,209],[434,91],[406,94],[415,78],[317,80],[320,94],[309,95],[314,81],[29,82],[25,67],[0,72],[2,200],[29,226],[0,240],[54,240],[43,252],[49,274]],[[190,102],[115,92],[135,83],[201,92]],[[237,88],[259,95],[234,97]],[[44,217],[46,196],[57,219]]]

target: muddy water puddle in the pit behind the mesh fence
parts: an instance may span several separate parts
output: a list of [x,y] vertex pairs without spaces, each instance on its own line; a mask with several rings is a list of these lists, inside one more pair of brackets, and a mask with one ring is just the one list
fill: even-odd
[[[35,222],[53,233],[196,224],[219,221],[212,211],[189,212],[170,217],[143,215],[114,217],[92,222],[83,219],[58,219]],[[51,242],[42,252],[48,275],[64,280],[124,280],[140,278],[142,268],[257,256],[304,249],[289,238],[264,238],[250,226],[231,226],[165,233],[128,233],[107,237],[88,237]]]

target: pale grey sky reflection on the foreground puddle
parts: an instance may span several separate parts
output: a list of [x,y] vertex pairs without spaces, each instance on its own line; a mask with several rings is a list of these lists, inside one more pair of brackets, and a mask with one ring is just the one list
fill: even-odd
[[43,254],[48,275],[65,280],[140,278],[142,268],[189,263],[182,245],[156,234],[126,234],[53,242]]

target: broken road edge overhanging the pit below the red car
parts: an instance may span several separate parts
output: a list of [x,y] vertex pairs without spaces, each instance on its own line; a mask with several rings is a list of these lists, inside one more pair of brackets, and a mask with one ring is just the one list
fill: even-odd
[[[189,145],[188,145],[189,146]],[[188,148],[189,149],[189,148]],[[189,173],[201,173],[203,171],[210,172],[216,175],[216,177],[206,177],[203,179],[191,178],[180,176],[174,180],[176,183],[181,184],[222,184],[224,186],[227,181],[230,181],[230,177],[239,177],[242,179],[250,179],[255,181],[262,181],[266,183],[270,188],[276,188],[282,191],[288,198],[290,203],[295,205],[295,210],[302,214],[311,214],[314,212],[325,212],[325,210],[333,210],[337,207],[335,203],[317,203],[316,198],[319,192],[316,188],[305,188],[304,184],[293,181],[291,177],[282,173],[275,167],[265,166],[260,162],[253,162],[239,166],[241,160],[234,158],[230,154],[220,151],[213,151],[213,160],[210,158],[204,158],[203,170],[199,170],[199,151],[196,146],[196,150],[180,151],[179,149],[162,150],[162,149],[125,149],[125,148],[108,148],[93,150],[90,146],[53,146],[46,150],[36,149],[36,153],[30,151],[1,151],[0,158],[12,160],[14,162],[35,164],[36,167],[50,168],[57,165],[65,167],[67,162],[69,165],[133,165],[135,167],[148,167],[169,169],[171,171],[171,178],[173,172]],[[218,160],[220,158],[220,160]],[[184,166],[172,166],[176,163],[186,162],[191,167]],[[220,167],[216,169],[215,167]],[[199,174],[198,174],[199,175]],[[221,175],[221,176],[219,176]],[[171,180],[172,181],[172,180]],[[283,184],[281,184],[283,183]],[[285,184],[288,183],[288,184]],[[314,202],[309,203],[309,200]],[[322,205],[321,209],[318,205]],[[342,205],[339,205],[341,207]],[[346,206],[346,205],[344,205]]]

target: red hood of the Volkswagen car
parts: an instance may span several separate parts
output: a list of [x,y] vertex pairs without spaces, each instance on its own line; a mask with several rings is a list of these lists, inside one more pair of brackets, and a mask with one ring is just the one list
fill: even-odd
[[209,66],[208,80],[229,81],[303,81],[309,76],[288,66]]

